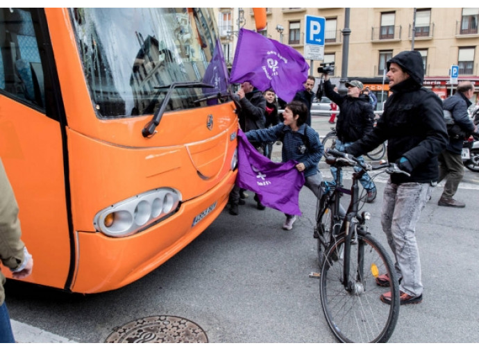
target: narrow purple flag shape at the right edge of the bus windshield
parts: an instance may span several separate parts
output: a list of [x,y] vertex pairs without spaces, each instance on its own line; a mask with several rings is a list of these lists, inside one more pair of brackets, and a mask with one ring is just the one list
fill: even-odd
[[[208,67],[206,67],[205,76],[203,76],[203,83],[215,86],[214,88],[203,88],[203,94],[228,92],[228,68],[226,68],[223,49],[221,49],[221,42],[219,42],[219,39],[217,39],[211,62],[208,64]],[[217,99],[208,100],[208,105],[217,103]]]

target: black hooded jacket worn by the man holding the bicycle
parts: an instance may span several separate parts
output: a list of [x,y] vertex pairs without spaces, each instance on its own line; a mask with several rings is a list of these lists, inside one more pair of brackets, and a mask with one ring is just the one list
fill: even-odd
[[395,163],[405,157],[413,168],[410,177],[392,174],[392,183],[437,181],[437,156],[448,143],[442,101],[434,92],[421,88],[424,69],[419,52],[398,53],[387,61],[388,70],[391,63],[399,65],[410,78],[392,86],[393,94],[388,97],[373,132],[352,144],[346,152],[360,156],[387,140],[389,162]]

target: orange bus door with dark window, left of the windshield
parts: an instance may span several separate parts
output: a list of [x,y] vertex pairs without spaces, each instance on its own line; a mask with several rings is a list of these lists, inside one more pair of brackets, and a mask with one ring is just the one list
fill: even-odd
[[0,8],[0,157],[35,259],[28,281],[42,271],[42,284],[64,288],[71,258],[65,119],[45,23],[42,9]]

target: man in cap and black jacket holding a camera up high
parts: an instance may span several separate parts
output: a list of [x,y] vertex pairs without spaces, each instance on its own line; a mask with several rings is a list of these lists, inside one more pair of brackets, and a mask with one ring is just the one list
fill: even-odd
[[[373,130],[374,113],[369,98],[361,94],[363,85],[360,81],[346,83],[348,93],[341,95],[333,90],[328,72],[324,72],[324,92],[326,97],[339,106],[339,115],[336,122],[336,146],[338,151],[359,140],[362,135]],[[361,95],[361,97],[360,97]],[[364,98],[364,99],[363,99]],[[360,158],[362,160],[362,158]],[[359,171],[359,168],[356,168]],[[333,179],[336,178],[336,168],[331,167]],[[376,185],[368,174],[360,179],[362,187],[367,191],[367,202],[372,203],[376,199]]]

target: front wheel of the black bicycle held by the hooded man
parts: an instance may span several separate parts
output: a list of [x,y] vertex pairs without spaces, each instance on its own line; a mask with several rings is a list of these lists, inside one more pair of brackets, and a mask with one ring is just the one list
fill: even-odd
[[[387,342],[399,315],[399,286],[394,265],[383,246],[369,234],[358,233],[351,244],[349,285],[344,286],[344,242],[342,235],[330,245],[321,268],[321,306],[328,326],[341,342]],[[376,283],[379,274],[389,274],[389,287]],[[392,293],[392,303],[380,300]]]

